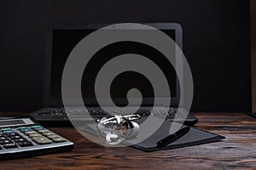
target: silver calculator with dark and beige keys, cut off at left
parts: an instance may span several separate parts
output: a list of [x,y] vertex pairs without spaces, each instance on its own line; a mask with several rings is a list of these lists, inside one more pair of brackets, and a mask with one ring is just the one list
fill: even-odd
[[73,142],[32,118],[0,120],[0,160],[73,150]]

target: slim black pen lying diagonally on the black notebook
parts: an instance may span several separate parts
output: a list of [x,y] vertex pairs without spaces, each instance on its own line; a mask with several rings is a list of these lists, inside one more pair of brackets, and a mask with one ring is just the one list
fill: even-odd
[[190,127],[183,127],[179,129],[176,133],[173,133],[169,136],[167,136],[164,139],[160,139],[160,141],[157,142],[157,147],[165,147],[167,144],[171,144],[175,140],[181,138],[183,135],[189,132]]

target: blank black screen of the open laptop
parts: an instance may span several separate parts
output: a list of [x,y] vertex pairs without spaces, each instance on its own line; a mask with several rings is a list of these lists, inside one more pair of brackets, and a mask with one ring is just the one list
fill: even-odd
[[[61,99],[61,76],[67,58],[73,48],[84,37],[89,35],[93,29],[55,29],[53,30],[52,37],[52,57],[51,57],[51,73],[50,73],[50,96],[51,98]],[[173,29],[161,30],[166,33],[172,40],[175,41],[176,32]],[[171,48],[175,53],[175,50]],[[81,91],[83,97],[95,98],[94,95],[94,82],[97,72],[101,69],[102,65],[108,61],[108,58],[119,54],[141,54],[151,59],[156,63],[164,72],[166,79],[169,83],[171,97],[177,97],[177,75],[172,65],[166,62],[165,56],[160,54],[158,50],[140,42],[116,42],[110,44],[105,48],[100,49],[96,53],[96,57],[90,59],[86,71],[81,81]],[[107,60],[106,60],[107,59]],[[86,76],[87,75],[87,76]],[[154,90],[149,85],[148,79],[135,73],[127,73],[122,75],[123,78],[115,78],[113,81],[113,88],[110,89],[111,97],[113,99],[124,99],[127,96],[127,90],[137,88],[143,94],[143,98],[154,99],[166,98],[167,94],[162,93],[160,96],[154,96]],[[86,77],[86,79],[85,79]],[[102,98],[105,96],[102,95]],[[137,96],[131,96],[136,98]]]

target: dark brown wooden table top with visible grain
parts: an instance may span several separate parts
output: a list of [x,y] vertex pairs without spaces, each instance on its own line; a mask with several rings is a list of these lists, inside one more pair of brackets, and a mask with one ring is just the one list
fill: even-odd
[[72,127],[50,130],[74,142],[72,152],[0,161],[0,169],[256,169],[256,119],[244,113],[195,113],[195,127],[226,137],[221,142],[143,152],[90,142]]

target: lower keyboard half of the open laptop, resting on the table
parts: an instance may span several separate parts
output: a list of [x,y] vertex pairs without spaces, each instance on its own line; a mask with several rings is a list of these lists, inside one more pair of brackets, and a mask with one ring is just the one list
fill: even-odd
[[[120,110],[113,110],[110,108],[107,110],[107,112],[122,115],[131,115],[136,113],[140,116],[159,116],[165,117],[167,121],[173,121],[177,114],[177,108],[169,108],[169,111],[167,108],[157,108],[152,111],[149,107],[140,108],[139,111],[136,111],[133,108]],[[181,110],[181,114],[185,112],[186,111],[183,112],[183,109]],[[88,110],[74,108],[73,110],[69,109],[68,112],[66,112],[64,108],[44,108],[32,112],[31,116],[45,126],[67,126],[67,124],[70,123],[68,118],[69,115],[73,116],[73,120],[77,119],[77,121],[90,121],[91,118],[98,120],[103,116],[107,116],[108,113],[102,111],[101,108],[88,108]],[[190,126],[194,125],[197,121],[198,119],[189,113],[184,124]]]

